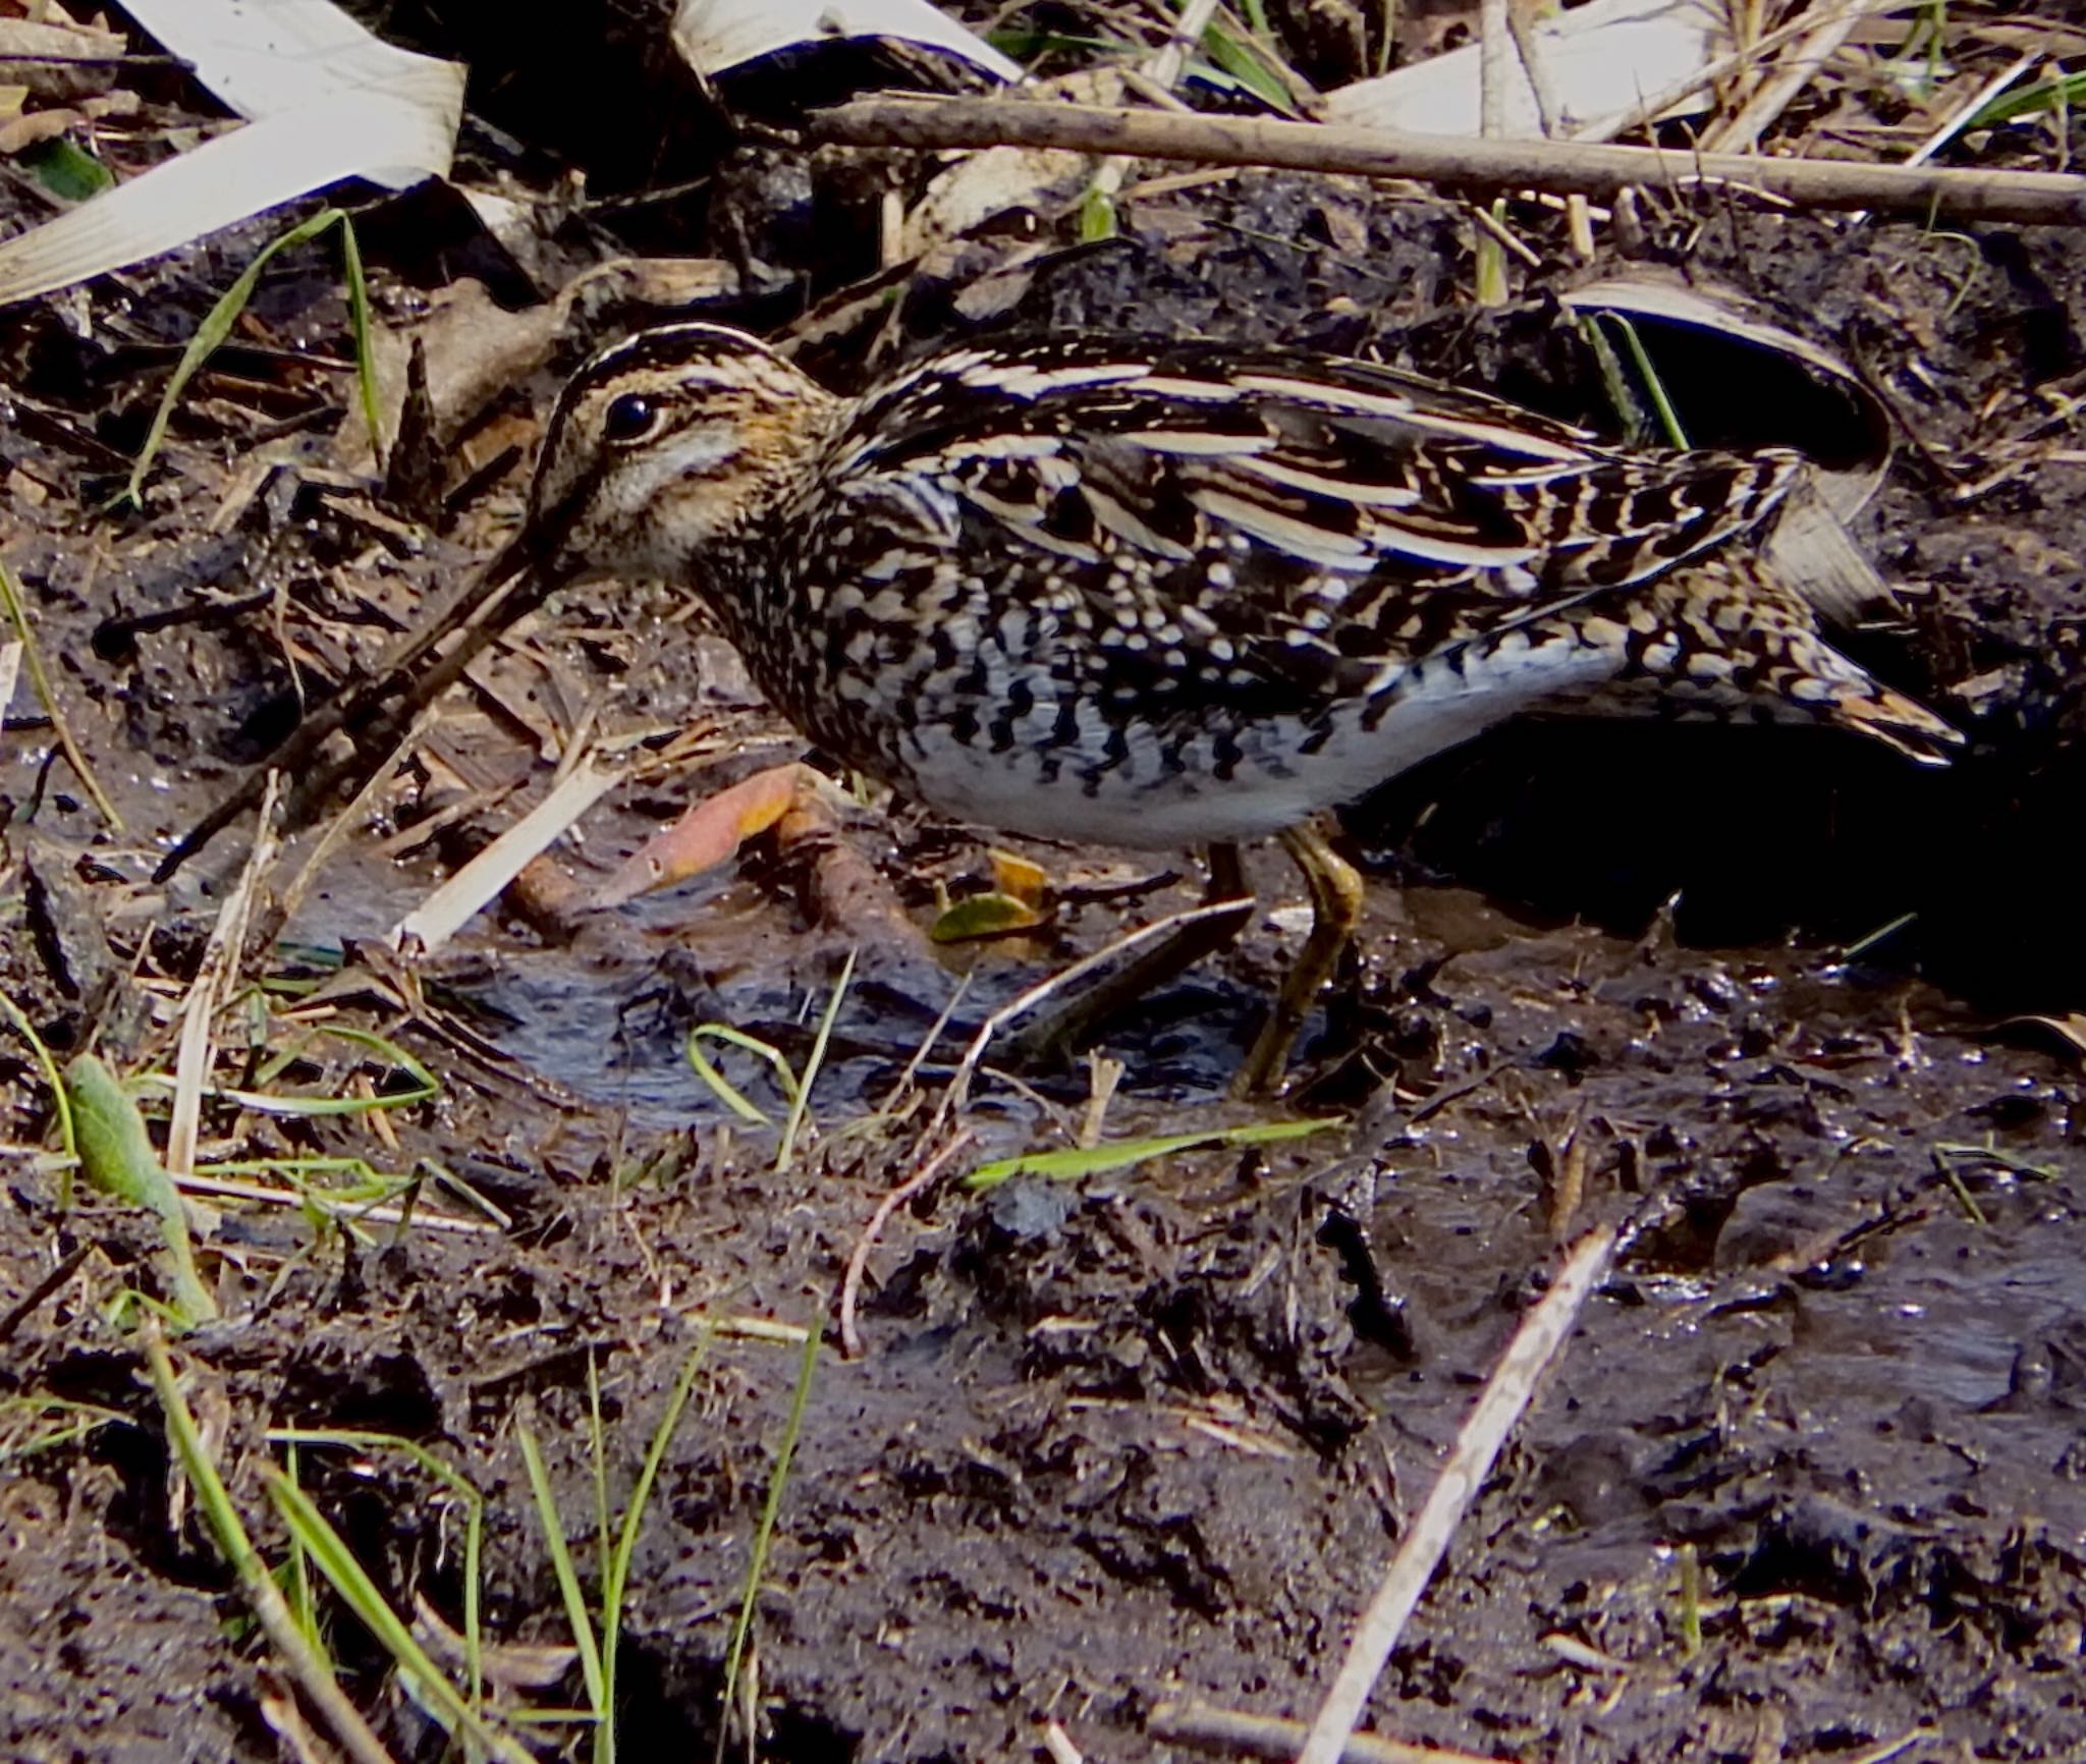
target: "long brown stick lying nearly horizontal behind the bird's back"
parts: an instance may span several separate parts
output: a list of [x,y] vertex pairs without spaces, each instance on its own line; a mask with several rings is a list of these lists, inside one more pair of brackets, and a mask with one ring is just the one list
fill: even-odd
[[1721,181],[1750,186],[1802,209],[1882,209],[2019,225],[2086,223],[2086,177],[2055,171],[1936,171],[1925,165],[1688,154],[1587,142],[1408,136],[1335,123],[1110,111],[1020,98],[862,98],[820,111],[805,127],[811,140],[841,146],[1064,148],[1600,198],[1631,186]]

